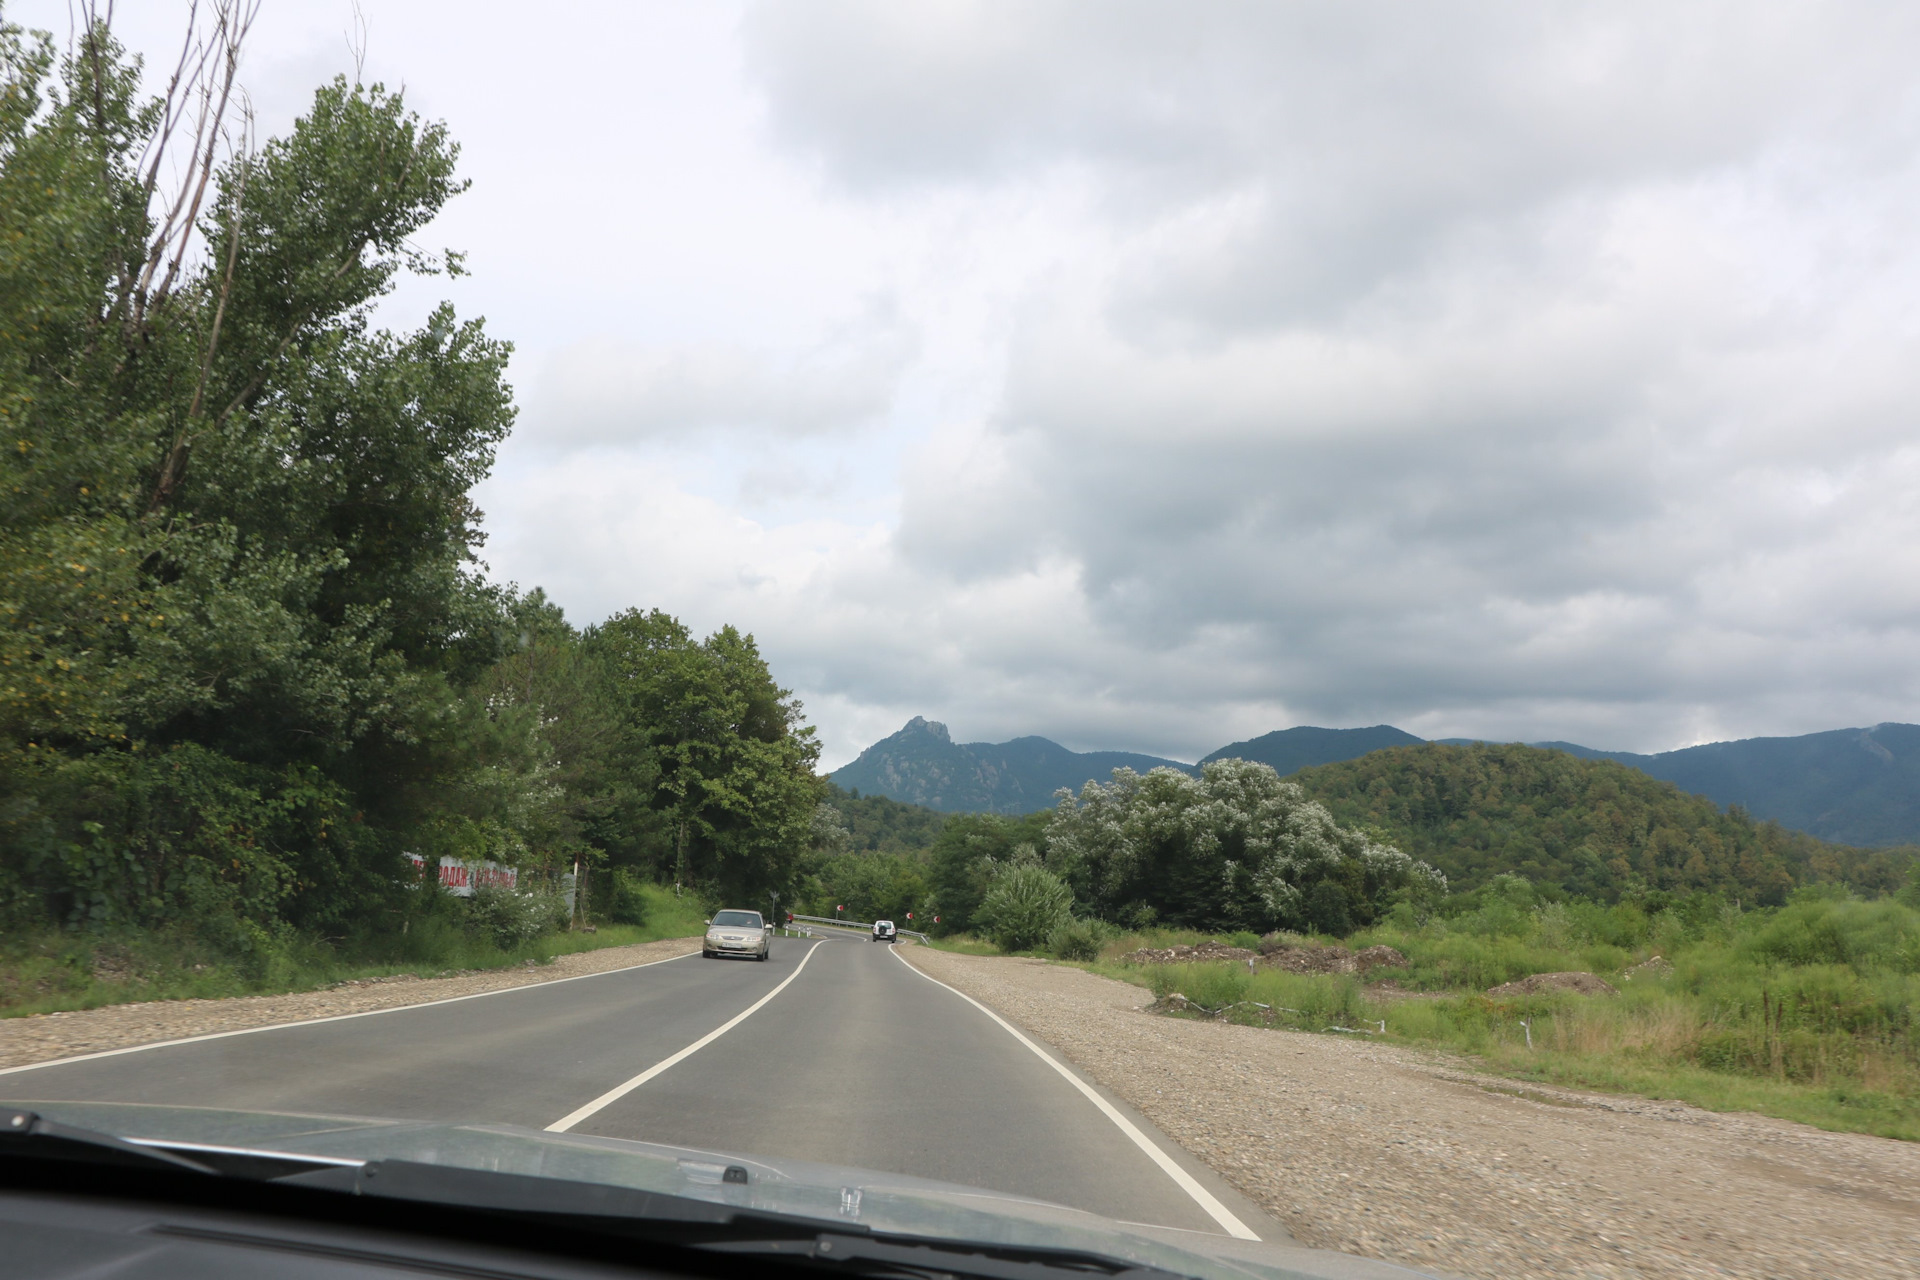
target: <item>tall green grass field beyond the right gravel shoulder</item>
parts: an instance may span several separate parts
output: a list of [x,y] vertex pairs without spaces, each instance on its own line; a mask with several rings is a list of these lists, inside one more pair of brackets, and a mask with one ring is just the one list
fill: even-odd
[[[1690,917],[1638,921],[1615,908],[1519,906],[1356,935],[1348,946],[1382,942],[1409,961],[1367,981],[1117,963],[1135,946],[1171,944],[1154,935],[1116,940],[1098,967],[1236,1023],[1371,1031],[1521,1079],[1920,1140],[1920,912],[1841,894],[1772,912],[1693,904]],[[1636,969],[1655,954],[1670,967]],[[1486,994],[1569,969],[1607,979],[1619,996]],[[1382,977],[1415,994],[1388,992]]]

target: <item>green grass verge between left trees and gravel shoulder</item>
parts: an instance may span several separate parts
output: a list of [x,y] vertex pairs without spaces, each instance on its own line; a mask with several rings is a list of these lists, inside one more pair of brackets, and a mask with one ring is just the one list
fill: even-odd
[[436,977],[507,969],[557,956],[697,936],[707,908],[695,896],[647,885],[643,925],[601,923],[595,933],[549,933],[497,946],[455,917],[415,921],[405,935],[328,942],[292,935],[250,956],[230,956],[165,931],[84,935],[60,929],[0,940],[0,1017],[98,1009],[138,1000],[217,1000],[315,990],[353,979]]

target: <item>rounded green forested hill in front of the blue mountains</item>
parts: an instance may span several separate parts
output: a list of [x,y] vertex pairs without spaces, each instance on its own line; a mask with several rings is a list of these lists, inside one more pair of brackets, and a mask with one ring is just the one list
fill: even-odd
[[1461,889],[1513,871],[1597,900],[1640,885],[1778,904],[1812,881],[1891,890],[1910,858],[1828,844],[1624,764],[1538,747],[1398,747],[1292,781]]

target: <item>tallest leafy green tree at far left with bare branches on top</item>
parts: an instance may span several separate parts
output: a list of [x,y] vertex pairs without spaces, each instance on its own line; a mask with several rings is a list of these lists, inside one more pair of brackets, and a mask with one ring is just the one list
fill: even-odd
[[58,915],[253,936],[365,921],[461,821],[501,639],[467,493],[513,409],[476,322],[371,324],[449,265],[413,248],[445,130],[336,81],[221,159],[242,36],[177,155],[192,83],[142,100],[102,21],[58,67],[0,33],[0,844]]

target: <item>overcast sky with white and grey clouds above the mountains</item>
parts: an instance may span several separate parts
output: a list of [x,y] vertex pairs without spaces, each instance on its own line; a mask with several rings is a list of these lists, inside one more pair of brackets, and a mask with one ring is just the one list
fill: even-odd
[[[492,572],[753,631],[828,766],[1920,720],[1920,6],[359,8]],[[353,12],[267,0],[269,132]]]

